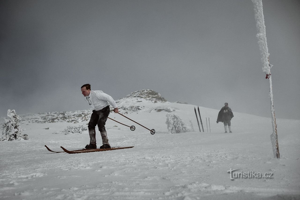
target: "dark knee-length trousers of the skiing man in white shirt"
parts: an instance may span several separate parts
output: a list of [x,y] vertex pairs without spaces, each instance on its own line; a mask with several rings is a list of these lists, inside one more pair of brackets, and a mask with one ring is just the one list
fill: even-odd
[[107,121],[108,115],[110,114],[110,106],[106,106],[102,110],[93,110],[91,115],[91,119],[88,122],[88,130],[95,129],[96,125],[98,125],[98,129],[100,132],[105,130],[105,122]]

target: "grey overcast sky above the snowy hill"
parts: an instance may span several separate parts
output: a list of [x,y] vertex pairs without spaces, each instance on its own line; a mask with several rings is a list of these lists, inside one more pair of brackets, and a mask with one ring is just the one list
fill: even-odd
[[[299,120],[300,1],[262,3],[276,118]],[[90,108],[90,83],[271,118],[256,34],[251,0],[1,0],[0,116]]]

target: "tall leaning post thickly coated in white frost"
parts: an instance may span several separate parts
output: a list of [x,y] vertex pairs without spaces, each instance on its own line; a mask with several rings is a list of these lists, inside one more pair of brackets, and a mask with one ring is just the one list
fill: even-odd
[[272,115],[272,127],[273,133],[271,134],[271,143],[274,157],[280,158],[279,147],[278,147],[278,138],[277,138],[277,124],[275,118],[275,110],[274,110],[274,101],[273,101],[273,89],[272,89],[272,77],[271,77],[271,67],[272,65],[269,63],[269,53],[267,46],[267,37],[265,33],[265,19],[262,11],[262,0],[252,0],[254,5],[255,12],[255,20],[256,20],[256,29],[259,44],[259,50],[262,61],[262,71],[266,73],[266,79],[269,80],[270,92],[269,97],[271,99],[271,115]]

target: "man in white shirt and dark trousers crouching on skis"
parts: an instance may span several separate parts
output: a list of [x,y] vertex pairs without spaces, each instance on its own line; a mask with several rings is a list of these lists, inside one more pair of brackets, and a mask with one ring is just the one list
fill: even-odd
[[98,125],[102,137],[101,149],[111,148],[108,143],[107,132],[105,129],[105,122],[107,121],[108,115],[110,114],[110,105],[113,106],[114,112],[118,113],[118,107],[113,98],[105,94],[101,90],[91,90],[90,84],[81,86],[81,93],[83,94],[86,102],[94,109],[91,114],[91,119],[88,122],[88,134],[90,135],[90,144],[86,145],[86,149],[97,148],[96,144],[96,130],[95,127]]

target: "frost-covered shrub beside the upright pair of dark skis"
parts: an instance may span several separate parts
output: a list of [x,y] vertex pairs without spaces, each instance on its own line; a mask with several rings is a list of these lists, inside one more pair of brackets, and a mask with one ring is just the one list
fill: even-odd
[[166,116],[169,133],[185,133],[190,131],[177,114],[167,114]]

